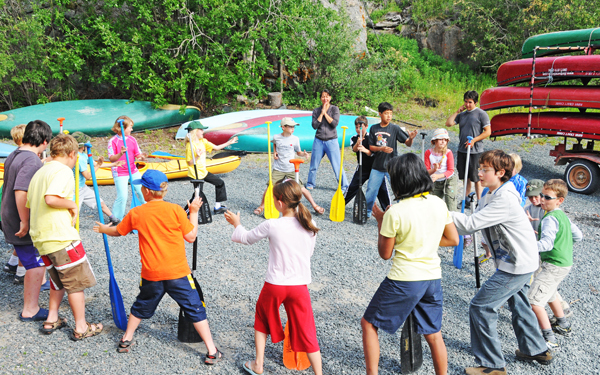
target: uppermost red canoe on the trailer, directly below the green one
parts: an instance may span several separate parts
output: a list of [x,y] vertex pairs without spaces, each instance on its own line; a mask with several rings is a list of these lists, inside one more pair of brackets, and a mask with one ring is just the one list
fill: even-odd
[[[505,62],[498,68],[498,86],[531,81],[532,59]],[[536,83],[576,78],[599,78],[600,55],[555,56],[535,59]]]

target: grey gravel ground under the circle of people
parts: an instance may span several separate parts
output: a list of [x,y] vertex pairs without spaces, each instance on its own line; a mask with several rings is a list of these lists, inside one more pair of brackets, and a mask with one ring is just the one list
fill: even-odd
[[[454,136],[453,138],[457,138]],[[561,178],[564,166],[555,167],[548,156],[550,145],[533,145],[522,139],[486,141],[486,149],[502,148],[517,152],[524,160],[521,174],[527,178]],[[409,149],[400,147],[402,152]],[[456,141],[451,144],[456,149]],[[412,148],[420,152],[420,142]],[[351,178],[356,167],[355,158],[347,158],[345,169]],[[308,165],[301,167],[301,178],[306,180]],[[263,219],[252,214],[260,201],[268,178],[266,158],[250,156],[235,171],[222,176],[229,193],[228,206],[242,214],[242,223],[253,228]],[[250,188],[249,188],[250,187]],[[329,210],[329,202],[337,188],[327,161],[321,165],[318,186],[313,196],[318,204]],[[182,204],[191,193],[187,181],[170,183],[167,200]],[[114,201],[115,189],[101,187],[102,197]],[[208,200],[214,203],[214,189],[205,188]],[[570,194],[564,210],[584,233],[582,243],[575,245],[575,265],[561,285],[561,294],[572,302],[571,337],[559,336],[562,345],[556,360],[549,366],[516,361],[516,339],[510,323],[510,312],[502,308],[498,331],[510,374],[595,374],[600,373],[597,345],[600,334],[595,327],[600,323],[600,283],[598,282],[598,240],[600,230],[600,192],[590,196]],[[203,364],[203,344],[183,344],[177,340],[179,308],[165,297],[153,318],[144,321],[137,331],[135,346],[130,354],[118,354],[116,342],[122,332],[115,327],[108,294],[109,276],[106,256],[100,235],[92,232],[95,212],[84,207],[81,215],[81,236],[96,272],[98,284],[86,291],[87,318],[102,321],[105,331],[97,337],[81,342],[69,340],[68,329],[42,336],[38,323],[22,323],[18,314],[22,306],[22,287],[13,285],[12,277],[0,275],[0,373],[131,373],[131,374],[240,374],[240,365],[254,355],[254,307],[263,284],[267,267],[268,243],[253,246],[231,242],[232,227],[220,215],[210,225],[200,227],[199,265],[197,272],[207,302],[208,319],[218,347],[225,353],[222,363],[209,367]],[[309,285],[317,324],[317,335],[323,355],[325,373],[364,373],[360,318],[379,283],[390,268],[390,262],[379,258],[376,250],[377,226],[369,220],[365,226],[352,223],[350,205],[346,220],[329,221],[328,215],[315,217],[321,228],[315,254],[312,258],[313,282]],[[140,261],[137,236],[109,238],[116,280],[129,308],[138,291]],[[8,259],[11,248],[0,236],[2,263]],[[444,320],[442,333],[448,348],[449,373],[460,374],[475,364],[470,352],[468,303],[476,293],[473,273],[472,248],[465,250],[463,269],[452,265],[452,250],[440,248],[444,287]],[[192,246],[187,245],[191,261]],[[493,272],[492,262],[482,265],[485,281]],[[47,307],[47,293],[40,305]],[[66,300],[61,314],[72,326],[73,317]],[[283,315],[284,316],[284,315]],[[586,329],[585,327],[592,327]],[[381,333],[382,374],[400,373],[399,332]],[[429,349],[423,340],[424,361],[419,374],[433,373]],[[282,362],[282,344],[269,342],[266,350],[266,373],[293,374]]]

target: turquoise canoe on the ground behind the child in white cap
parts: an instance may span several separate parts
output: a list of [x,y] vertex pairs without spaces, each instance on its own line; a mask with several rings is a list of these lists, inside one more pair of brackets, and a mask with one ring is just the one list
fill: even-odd
[[[337,126],[338,144],[342,146],[342,126],[347,126],[345,145],[350,145],[350,138],[356,134],[354,120],[356,116],[341,115]],[[369,125],[377,124],[381,120],[376,117],[367,117]],[[296,126],[294,135],[300,138],[300,148],[305,151],[312,151],[312,144],[315,139],[316,130],[312,128],[312,116],[297,117],[294,119],[300,126]],[[281,121],[274,121],[271,124],[271,138],[274,134],[281,133]],[[267,152],[267,125],[257,125],[253,128],[243,130],[235,135],[238,142],[227,146],[226,150],[239,150],[247,152]],[[271,148],[271,151],[273,149]]]

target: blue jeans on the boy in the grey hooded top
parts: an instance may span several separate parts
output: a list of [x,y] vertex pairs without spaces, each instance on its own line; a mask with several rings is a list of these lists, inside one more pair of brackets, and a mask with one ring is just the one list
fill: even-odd
[[519,350],[537,355],[548,350],[531,309],[527,292],[533,273],[513,275],[497,270],[482,286],[469,305],[471,348],[475,361],[484,367],[506,366],[498,338],[498,309],[508,302]]

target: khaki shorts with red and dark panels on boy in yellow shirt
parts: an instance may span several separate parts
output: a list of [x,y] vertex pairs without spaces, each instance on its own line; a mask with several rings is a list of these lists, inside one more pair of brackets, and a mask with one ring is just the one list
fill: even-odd
[[96,285],[96,276],[81,241],[74,241],[62,250],[44,255],[42,259],[46,263],[54,290],[64,288],[67,294],[71,294]]

